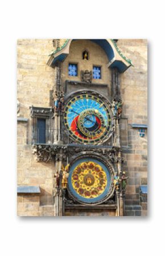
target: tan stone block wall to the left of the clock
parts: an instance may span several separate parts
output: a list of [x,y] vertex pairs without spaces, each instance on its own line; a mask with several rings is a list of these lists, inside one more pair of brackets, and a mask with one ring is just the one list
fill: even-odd
[[[32,119],[30,107],[50,106],[50,90],[54,85],[54,70],[47,66],[48,54],[52,50],[52,39],[19,39],[18,40],[18,87],[17,98],[20,102],[19,117],[27,118],[27,122],[18,122],[18,185],[39,185],[40,197],[22,197],[18,201],[18,215],[39,215],[39,205],[52,205],[54,164],[36,162],[31,152]],[[20,197],[19,197],[20,198]],[[33,198],[33,199],[32,199]],[[38,210],[30,210],[36,203]],[[20,200],[20,199],[19,199]],[[32,200],[32,203],[30,202]],[[29,208],[28,208],[29,202]],[[21,209],[21,210],[20,210]],[[38,212],[38,213],[37,213]]]

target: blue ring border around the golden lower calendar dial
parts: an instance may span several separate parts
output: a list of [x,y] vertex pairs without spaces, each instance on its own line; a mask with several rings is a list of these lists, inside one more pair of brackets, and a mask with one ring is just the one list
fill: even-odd
[[[75,186],[73,185],[73,175],[74,171],[77,168],[77,166],[80,166],[80,164],[83,164],[84,162],[95,162],[96,164],[100,165],[101,168],[104,169],[104,172],[106,173],[106,177],[108,178],[106,183],[106,188],[104,189],[103,193],[101,193],[98,197],[94,198],[86,198],[83,196],[80,196],[79,193],[76,192]],[[77,202],[80,202],[81,204],[85,205],[98,205],[102,202],[108,200],[110,197],[114,194],[114,166],[110,162],[106,161],[104,157],[100,157],[97,155],[88,155],[88,153],[85,156],[78,156],[70,163],[69,168],[69,177],[68,177],[68,192],[70,196],[76,200]],[[93,173],[91,173],[93,175]],[[92,176],[90,174],[90,176]],[[93,185],[93,183],[92,183]]]

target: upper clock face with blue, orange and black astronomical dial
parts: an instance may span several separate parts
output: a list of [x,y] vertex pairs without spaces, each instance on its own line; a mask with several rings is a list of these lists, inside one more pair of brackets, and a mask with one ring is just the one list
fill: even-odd
[[73,94],[65,107],[64,123],[73,140],[84,144],[100,144],[111,131],[109,105],[92,92]]

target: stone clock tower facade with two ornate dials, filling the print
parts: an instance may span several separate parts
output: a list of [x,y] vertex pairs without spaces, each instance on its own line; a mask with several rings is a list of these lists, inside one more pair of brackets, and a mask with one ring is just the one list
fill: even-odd
[[145,39],[18,40],[19,216],[146,216],[146,53]]

